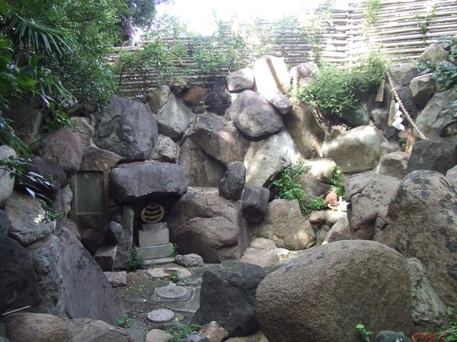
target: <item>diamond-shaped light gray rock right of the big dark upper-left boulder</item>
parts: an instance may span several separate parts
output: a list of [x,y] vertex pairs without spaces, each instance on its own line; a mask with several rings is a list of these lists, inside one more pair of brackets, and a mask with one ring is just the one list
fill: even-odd
[[183,100],[170,94],[168,102],[156,115],[159,133],[179,140],[194,120],[194,116],[191,108],[187,107]]

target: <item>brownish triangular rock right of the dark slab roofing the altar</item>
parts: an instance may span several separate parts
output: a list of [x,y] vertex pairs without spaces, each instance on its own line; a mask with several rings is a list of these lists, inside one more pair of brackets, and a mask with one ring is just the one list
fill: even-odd
[[191,187],[217,187],[225,172],[219,162],[189,138],[184,140],[179,149],[178,163],[184,167]]

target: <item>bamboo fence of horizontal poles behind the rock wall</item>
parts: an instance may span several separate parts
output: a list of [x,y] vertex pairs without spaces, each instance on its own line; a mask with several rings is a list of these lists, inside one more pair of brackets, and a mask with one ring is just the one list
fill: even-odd
[[[370,48],[380,49],[393,63],[414,61],[426,46],[436,43],[443,36],[457,34],[457,0],[383,0],[375,21],[370,25],[366,25],[366,11],[365,1],[351,0],[346,8],[332,11],[331,23],[321,30],[321,61],[356,63]],[[266,40],[271,43],[268,53],[282,56],[288,66],[316,61],[311,44],[302,33],[308,15],[309,13],[303,14],[302,20],[297,19],[296,23],[288,25],[257,21],[256,26],[261,28]],[[184,76],[191,83],[208,88],[221,75],[230,71],[225,67],[211,75],[202,73],[191,54],[191,40],[182,39],[189,56],[174,61],[178,67],[176,77]],[[171,38],[168,41],[171,43]],[[135,53],[142,48],[143,46],[115,48],[109,61],[115,64],[121,52]],[[124,71],[119,75],[119,86],[124,95],[135,96],[156,88],[158,80],[158,70],[135,68],[134,71]]]

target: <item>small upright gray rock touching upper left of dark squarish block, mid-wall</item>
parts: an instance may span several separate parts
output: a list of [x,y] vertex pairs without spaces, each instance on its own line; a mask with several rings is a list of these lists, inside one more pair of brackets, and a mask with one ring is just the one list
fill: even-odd
[[231,162],[224,177],[219,182],[219,196],[234,201],[241,198],[246,182],[246,167],[242,162]]

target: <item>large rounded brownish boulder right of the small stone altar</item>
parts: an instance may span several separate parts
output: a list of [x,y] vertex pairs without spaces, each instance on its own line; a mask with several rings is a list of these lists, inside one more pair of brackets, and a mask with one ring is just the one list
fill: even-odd
[[217,189],[184,195],[166,221],[171,241],[205,262],[239,259],[248,244],[241,204],[220,197]]

